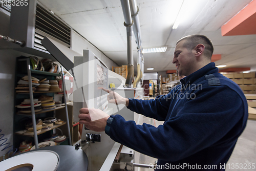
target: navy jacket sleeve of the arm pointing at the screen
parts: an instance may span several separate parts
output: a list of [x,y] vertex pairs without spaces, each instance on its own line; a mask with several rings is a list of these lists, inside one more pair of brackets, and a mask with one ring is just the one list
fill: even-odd
[[158,96],[151,100],[129,99],[127,108],[146,117],[164,121],[170,108],[170,102],[175,95],[175,91],[178,91],[178,88],[173,89],[167,95]]

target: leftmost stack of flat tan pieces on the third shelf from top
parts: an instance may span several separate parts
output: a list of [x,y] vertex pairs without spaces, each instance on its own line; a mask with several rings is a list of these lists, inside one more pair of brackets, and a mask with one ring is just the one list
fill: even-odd
[[[34,110],[35,112],[39,112],[42,110],[41,101],[38,99],[33,99],[34,101]],[[24,99],[24,101],[17,105],[18,112],[20,113],[31,113],[31,104],[30,99]]]

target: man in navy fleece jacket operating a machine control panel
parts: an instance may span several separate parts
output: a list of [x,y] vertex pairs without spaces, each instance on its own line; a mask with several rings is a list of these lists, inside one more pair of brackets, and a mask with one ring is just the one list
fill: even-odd
[[[110,103],[122,103],[132,111],[164,121],[154,127],[107,116],[95,109],[80,110],[80,123],[105,131],[113,140],[158,158],[157,170],[225,170],[248,118],[246,98],[211,62],[212,42],[204,35],[181,38],[175,48],[181,85],[155,100],[123,98],[110,93]],[[115,99],[113,99],[115,94]],[[90,113],[90,114],[89,114]],[[91,121],[90,115],[103,119]]]

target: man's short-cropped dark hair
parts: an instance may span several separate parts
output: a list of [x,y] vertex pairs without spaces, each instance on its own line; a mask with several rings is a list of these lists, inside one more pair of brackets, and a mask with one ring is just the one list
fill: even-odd
[[182,40],[186,40],[183,44],[183,47],[187,48],[188,50],[193,50],[198,44],[203,44],[205,46],[204,56],[208,57],[208,59],[211,59],[212,53],[214,53],[214,46],[212,45],[212,41],[205,35],[193,34],[185,36],[179,39],[177,44]]

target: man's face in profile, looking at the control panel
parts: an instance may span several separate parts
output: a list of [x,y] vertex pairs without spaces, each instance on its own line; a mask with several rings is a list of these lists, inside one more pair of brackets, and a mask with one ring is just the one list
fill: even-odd
[[186,40],[180,41],[174,51],[173,63],[176,64],[179,75],[188,76],[193,73],[194,55],[193,50],[188,50],[183,47]]

